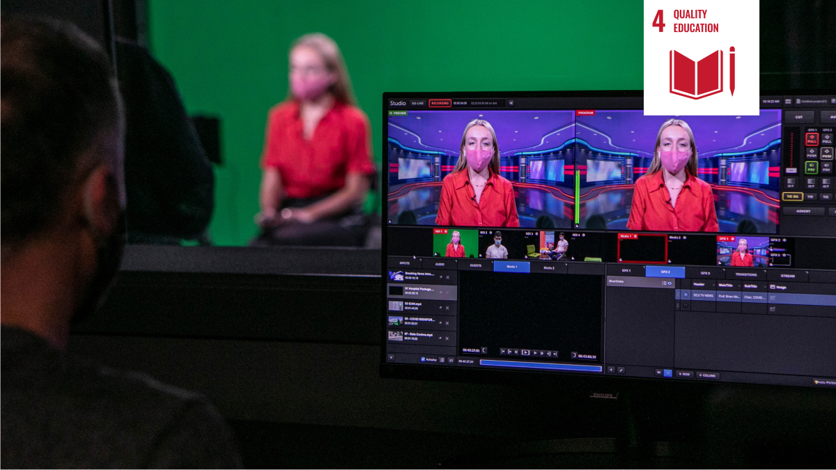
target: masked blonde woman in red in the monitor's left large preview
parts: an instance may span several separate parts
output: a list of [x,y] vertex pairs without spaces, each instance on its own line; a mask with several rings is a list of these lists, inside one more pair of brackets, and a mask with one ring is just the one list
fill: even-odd
[[487,120],[467,123],[459,161],[441,183],[437,225],[519,227],[511,181],[499,176],[497,133]]

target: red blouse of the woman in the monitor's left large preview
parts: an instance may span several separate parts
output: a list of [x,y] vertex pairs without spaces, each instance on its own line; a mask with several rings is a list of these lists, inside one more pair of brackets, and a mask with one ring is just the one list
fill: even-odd
[[491,172],[479,203],[467,170],[444,177],[436,225],[519,227],[517,199],[511,181]]

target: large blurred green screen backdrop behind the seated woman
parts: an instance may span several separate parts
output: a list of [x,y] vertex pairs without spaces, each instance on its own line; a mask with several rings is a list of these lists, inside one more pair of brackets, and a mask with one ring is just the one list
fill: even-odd
[[209,228],[235,246],[257,232],[264,128],[293,39],[339,43],[380,164],[385,91],[641,89],[641,14],[638,1],[149,0],[148,28],[186,110],[221,119]]

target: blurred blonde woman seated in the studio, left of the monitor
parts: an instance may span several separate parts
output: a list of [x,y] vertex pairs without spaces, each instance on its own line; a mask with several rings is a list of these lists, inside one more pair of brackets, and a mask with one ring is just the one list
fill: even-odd
[[356,245],[340,223],[369,191],[369,119],[354,104],[334,40],[320,33],[290,49],[288,99],[270,110],[254,245]]

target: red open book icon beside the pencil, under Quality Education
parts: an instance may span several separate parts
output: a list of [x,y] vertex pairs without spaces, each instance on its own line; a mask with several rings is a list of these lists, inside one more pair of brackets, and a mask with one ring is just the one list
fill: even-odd
[[699,100],[723,90],[723,51],[716,50],[699,62],[670,51],[670,93]]

